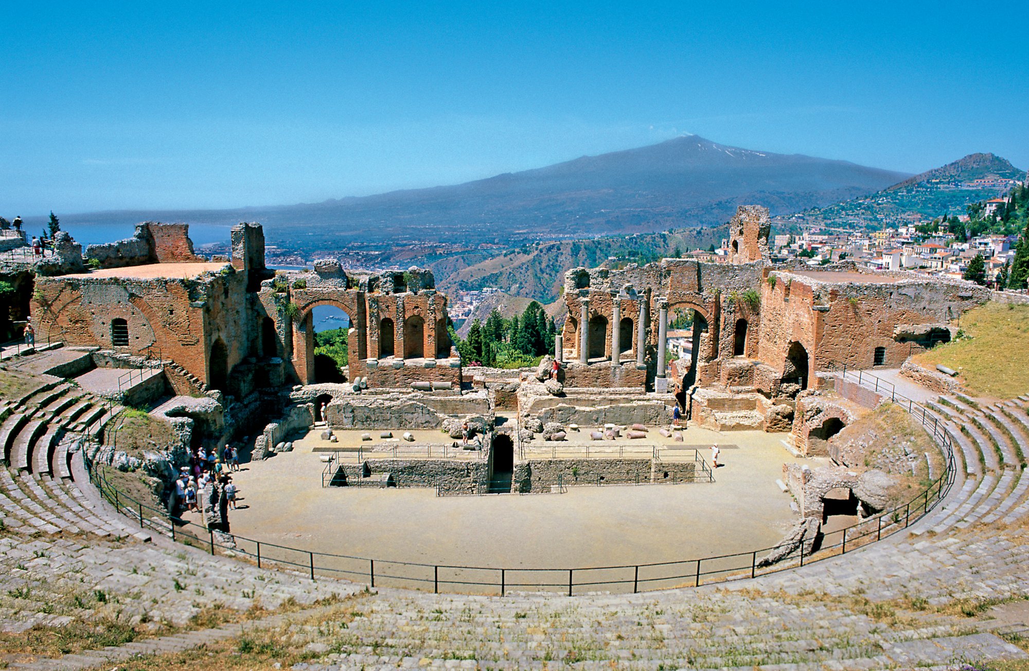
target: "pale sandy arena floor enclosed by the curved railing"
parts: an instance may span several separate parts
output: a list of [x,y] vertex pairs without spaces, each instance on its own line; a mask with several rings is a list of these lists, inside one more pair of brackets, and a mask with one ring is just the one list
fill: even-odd
[[[336,431],[343,445],[360,433]],[[715,483],[436,497],[430,489],[323,489],[324,464],[312,449],[325,443],[312,433],[291,453],[243,465],[235,475],[243,507],[229,519],[237,534],[303,550],[480,566],[631,564],[752,551],[774,545],[796,519],[775,484],[783,462],[794,460],[780,443],[784,435],[689,428],[685,445],[703,447],[708,461],[708,447],[723,446]]]

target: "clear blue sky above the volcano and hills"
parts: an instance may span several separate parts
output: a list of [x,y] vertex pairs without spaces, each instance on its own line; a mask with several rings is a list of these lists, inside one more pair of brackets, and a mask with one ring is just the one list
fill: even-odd
[[682,133],[1029,167],[1026,3],[212,4],[3,3],[0,214],[315,202]]

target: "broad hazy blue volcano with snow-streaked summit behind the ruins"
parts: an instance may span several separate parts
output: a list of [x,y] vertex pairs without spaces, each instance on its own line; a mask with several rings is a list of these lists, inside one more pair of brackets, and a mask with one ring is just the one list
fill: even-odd
[[588,238],[726,221],[740,204],[773,213],[824,206],[908,177],[845,161],[753,151],[690,135],[453,186],[235,210],[62,215],[69,227],[146,219],[265,224],[272,244],[304,252],[355,242]]

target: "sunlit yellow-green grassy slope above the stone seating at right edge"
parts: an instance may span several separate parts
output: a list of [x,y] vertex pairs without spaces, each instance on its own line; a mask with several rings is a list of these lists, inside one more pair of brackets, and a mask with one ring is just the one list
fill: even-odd
[[917,354],[915,361],[930,369],[954,368],[975,396],[1029,393],[1029,306],[988,303],[965,313],[958,325],[968,338]]

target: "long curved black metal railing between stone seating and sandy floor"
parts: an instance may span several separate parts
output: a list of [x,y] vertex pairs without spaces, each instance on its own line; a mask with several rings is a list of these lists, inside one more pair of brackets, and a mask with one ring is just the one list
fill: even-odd
[[[946,455],[945,469],[939,478],[906,503],[844,529],[824,534],[817,549],[814,545],[809,549],[801,542],[795,548],[783,548],[779,544],[698,559],[610,566],[570,568],[461,566],[315,552],[270,543],[239,534],[226,533],[220,537],[227,540],[219,540],[219,536],[215,536],[212,529],[175,518],[167,510],[122,494],[107,482],[103,469],[97,467],[85,451],[81,454],[85,460],[90,482],[119,513],[138,519],[141,527],[168,534],[173,540],[199,545],[212,555],[218,554],[219,551],[222,553],[230,551],[234,557],[253,561],[258,568],[303,571],[309,574],[311,579],[319,575],[343,577],[356,581],[367,580],[370,587],[389,585],[431,589],[435,593],[450,591],[503,596],[511,589],[552,591],[568,596],[600,589],[636,593],[640,590],[699,587],[710,582],[752,578],[804,566],[852,552],[890,536],[907,529],[912,523],[927,515],[947,496],[954,485],[956,473],[954,450],[950,437],[938,427],[934,418],[929,418],[924,409],[911,399],[906,400],[910,401],[909,409],[917,407],[922,411],[920,414],[913,413],[913,416],[921,417],[926,429],[930,428],[928,419],[933,420],[930,432]],[[760,561],[761,557],[773,552],[781,555],[777,561],[774,563]]]

